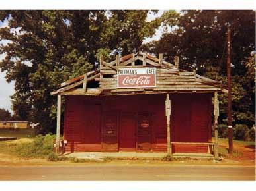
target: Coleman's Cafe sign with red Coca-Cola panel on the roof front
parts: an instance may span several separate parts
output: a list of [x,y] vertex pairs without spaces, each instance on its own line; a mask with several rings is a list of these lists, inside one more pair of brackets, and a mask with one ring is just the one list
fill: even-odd
[[155,83],[156,68],[119,68],[118,88],[152,88]]

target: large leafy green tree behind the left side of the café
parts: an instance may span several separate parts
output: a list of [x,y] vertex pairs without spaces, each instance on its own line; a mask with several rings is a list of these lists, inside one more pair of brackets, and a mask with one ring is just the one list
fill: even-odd
[[[0,11],[0,68],[15,81],[13,110],[24,120],[39,122],[44,132],[55,130],[60,83],[97,68],[97,56],[140,50],[161,20],[146,22],[148,11]],[[110,55],[110,56],[109,56]]]

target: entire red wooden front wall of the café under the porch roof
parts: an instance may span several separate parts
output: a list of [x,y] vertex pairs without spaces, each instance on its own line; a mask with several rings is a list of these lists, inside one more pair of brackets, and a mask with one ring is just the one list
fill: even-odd
[[[64,116],[67,150],[140,151],[142,146],[142,151],[166,151],[165,97],[165,94],[67,95]],[[170,98],[171,142],[210,141],[211,94],[170,94]],[[143,120],[150,121],[148,129],[140,128]],[[207,146],[175,145],[173,151],[204,152]]]

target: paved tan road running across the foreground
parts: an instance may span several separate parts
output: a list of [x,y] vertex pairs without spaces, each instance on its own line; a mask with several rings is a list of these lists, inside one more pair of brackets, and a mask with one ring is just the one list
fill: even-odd
[[253,166],[0,166],[0,180],[255,180]]

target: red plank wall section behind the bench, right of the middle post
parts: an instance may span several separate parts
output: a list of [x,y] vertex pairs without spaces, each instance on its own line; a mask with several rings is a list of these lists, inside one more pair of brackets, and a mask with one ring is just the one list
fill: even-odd
[[[209,142],[211,140],[211,94],[173,96],[171,142]],[[208,146],[175,144],[174,152],[207,153]]]

